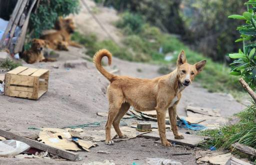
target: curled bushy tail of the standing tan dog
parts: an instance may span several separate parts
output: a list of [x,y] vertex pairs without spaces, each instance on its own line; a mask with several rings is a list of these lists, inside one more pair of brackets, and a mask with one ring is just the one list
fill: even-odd
[[104,56],[108,58],[108,65],[110,65],[112,61],[112,54],[107,49],[98,50],[93,56],[93,62],[95,63],[95,66],[98,69],[98,71],[111,82],[114,75],[107,72],[101,65],[101,59]]

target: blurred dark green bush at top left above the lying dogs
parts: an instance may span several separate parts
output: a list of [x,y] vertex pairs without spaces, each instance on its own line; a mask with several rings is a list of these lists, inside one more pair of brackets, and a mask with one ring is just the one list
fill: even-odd
[[31,13],[29,20],[29,31],[32,37],[38,38],[42,30],[54,26],[58,16],[67,16],[77,13],[79,0],[40,0],[35,13]]

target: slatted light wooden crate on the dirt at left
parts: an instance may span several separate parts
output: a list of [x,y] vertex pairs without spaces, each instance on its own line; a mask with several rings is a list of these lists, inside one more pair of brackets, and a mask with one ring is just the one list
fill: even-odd
[[5,74],[4,94],[38,99],[48,90],[49,70],[18,66]]

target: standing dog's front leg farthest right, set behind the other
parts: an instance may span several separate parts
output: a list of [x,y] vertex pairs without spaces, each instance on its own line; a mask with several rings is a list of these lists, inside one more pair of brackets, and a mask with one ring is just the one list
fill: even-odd
[[178,134],[176,104],[169,107],[168,112],[169,112],[171,130],[174,134],[174,137],[177,138],[177,139],[184,138],[184,136],[182,134]]

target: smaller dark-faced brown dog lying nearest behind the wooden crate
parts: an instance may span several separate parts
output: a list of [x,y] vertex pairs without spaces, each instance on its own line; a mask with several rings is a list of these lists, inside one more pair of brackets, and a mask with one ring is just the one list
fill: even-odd
[[42,39],[32,39],[31,48],[27,51],[24,51],[21,57],[27,63],[34,62],[46,62],[46,61],[56,61],[55,58],[45,58],[43,56],[43,48],[47,46],[46,42]]

